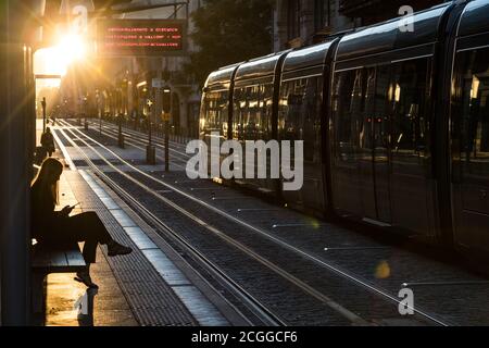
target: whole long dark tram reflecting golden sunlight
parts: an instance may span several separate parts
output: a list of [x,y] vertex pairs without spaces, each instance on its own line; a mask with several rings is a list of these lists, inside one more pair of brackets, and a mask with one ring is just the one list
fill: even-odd
[[[402,18],[213,72],[200,135],[302,140],[304,184],[235,181],[464,251],[489,251],[489,0]],[[243,165],[246,165],[246,160]]]

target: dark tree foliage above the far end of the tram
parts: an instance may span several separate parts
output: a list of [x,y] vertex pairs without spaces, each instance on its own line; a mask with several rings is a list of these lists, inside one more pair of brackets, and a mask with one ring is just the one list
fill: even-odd
[[272,51],[272,0],[206,0],[192,20],[190,37],[199,51],[190,54],[186,71],[201,86],[221,66]]

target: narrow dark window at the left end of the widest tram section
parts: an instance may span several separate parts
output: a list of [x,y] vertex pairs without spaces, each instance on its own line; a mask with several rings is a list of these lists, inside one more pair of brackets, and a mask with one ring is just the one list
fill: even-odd
[[[365,107],[365,74],[363,70],[337,74],[334,85],[333,117],[335,124],[336,160],[355,163],[358,147],[363,134],[362,111]],[[367,137],[364,137],[367,138]]]

